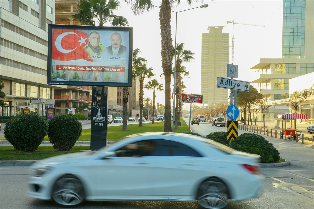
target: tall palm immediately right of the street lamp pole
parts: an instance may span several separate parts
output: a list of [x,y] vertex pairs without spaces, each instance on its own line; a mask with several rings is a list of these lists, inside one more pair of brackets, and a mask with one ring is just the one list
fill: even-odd
[[[175,48],[172,47],[173,54]],[[180,122],[179,113],[181,112],[181,75],[188,76],[189,72],[186,71],[184,66],[181,66],[183,62],[190,62],[195,60],[194,54],[190,50],[184,49],[184,43],[177,44],[176,47],[176,109],[175,109],[175,128],[178,128],[178,122]]]

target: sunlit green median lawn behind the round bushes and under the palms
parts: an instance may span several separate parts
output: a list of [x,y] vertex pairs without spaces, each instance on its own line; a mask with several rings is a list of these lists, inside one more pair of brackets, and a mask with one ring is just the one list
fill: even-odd
[[[165,122],[158,122],[152,125],[151,123],[143,123],[143,127],[138,127],[138,124],[127,125],[127,131],[122,131],[122,126],[108,127],[107,141],[119,141],[120,139],[134,134],[145,132],[163,132]],[[189,126],[185,121],[181,121],[181,126],[178,126],[176,133],[189,131]],[[48,136],[45,136],[44,141],[49,141]],[[78,141],[90,141],[90,128],[83,129],[82,135],[78,138]]]

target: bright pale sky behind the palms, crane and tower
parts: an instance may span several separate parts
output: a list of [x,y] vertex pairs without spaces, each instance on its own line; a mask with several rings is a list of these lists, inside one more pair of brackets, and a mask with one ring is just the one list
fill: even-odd
[[[160,6],[161,1],[153,0],[153,3],[155,6]],[[183,79],[184,84],[187,85],[186,93],[201,94],[201,42],[202,33],[208,33],[208,26],[225,25],[222,32],[230,34],[229,45],[232,45],[232,24],[226,24],[226,21],[235,19],[237,23],[265,26],[235,25],[234,64],[238,65],[237,80],[252,81],[250,77],[255,70],[250,68],[258,64],[260,58],[281,58],[283,0],[216,0],[215,2],[204,0],[191,6],[182,0],[181,5],[172,8],[172,11],[179,12],[202,4],[208,4],[208,8],[195,8],[177,13],[177,43],[184,43],[185,49],[195,53],[195,61],[183,64],[186,70],[190,71],[190,78]],[[141,50],[140,56],[148,60],[147,66],[154,68],[155,78],[164,84],[164,79],[160,79],[162,67],[159,8],[154,7],[149,12],[134,16],[131,5],[121,1],[121,7],[115,14],[127,18],[129,27],[133,27],[133,50],[137,48]],[[172,13],[173,45],[175,27],[176,13]],[[231,61],[232,47],[229,48],[229,62]],[[147,81],[147,79],[144,81],[144,85]],[[146,97],[152,99],[153,92],[144,89],[144,98]],[[156,92],[157,102],[165,103],[164,92]],[[171,104],[172,102],[171,100]]]

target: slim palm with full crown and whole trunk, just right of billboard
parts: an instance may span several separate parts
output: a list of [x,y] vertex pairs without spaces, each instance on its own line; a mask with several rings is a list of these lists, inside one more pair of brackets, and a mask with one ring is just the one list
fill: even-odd
[[[147,68],[147,62],[142,62],[142,64],[133,68],[132,77],[139,79],[139,127],[143,127],[143,99],[144,99],[144,81],[146,78],[151,78],[155,76],[152,72],[153,68]],[[134,67],[134,66],[133,66]]]

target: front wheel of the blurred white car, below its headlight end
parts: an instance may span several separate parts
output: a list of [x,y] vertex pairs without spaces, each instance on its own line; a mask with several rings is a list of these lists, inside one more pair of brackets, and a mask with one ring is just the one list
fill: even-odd
[[75,176],[64,175],[53,185],[51,199],[58,206],[79,206],[85,202],[84,186]]

